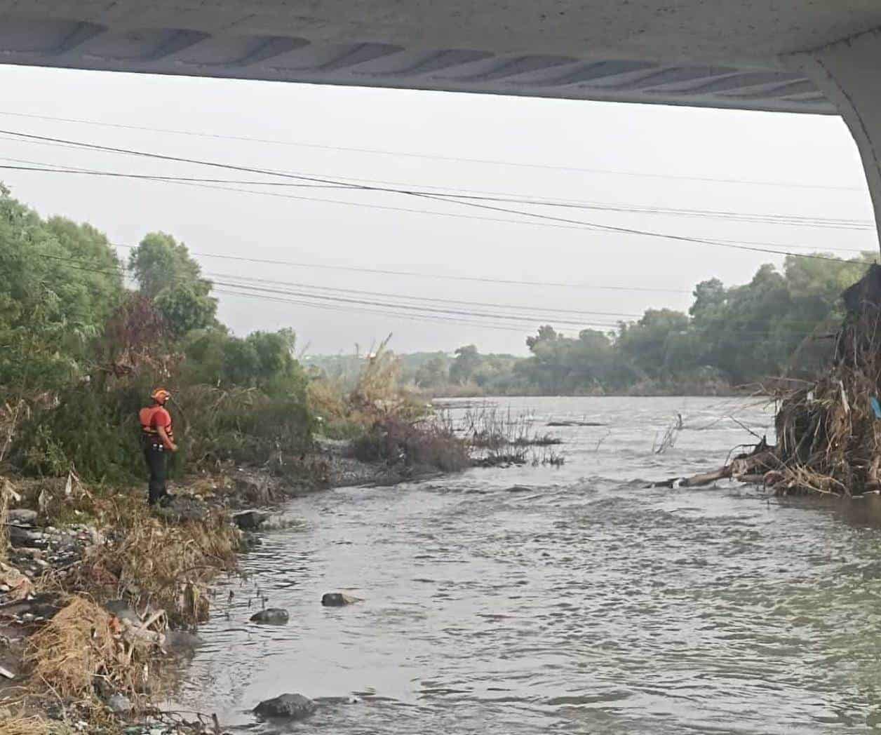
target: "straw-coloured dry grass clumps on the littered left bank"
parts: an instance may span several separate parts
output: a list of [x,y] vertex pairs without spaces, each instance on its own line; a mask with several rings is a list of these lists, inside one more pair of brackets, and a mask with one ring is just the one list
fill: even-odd
[[[76,717],[88,721],[87,731],[115,732],[99,691],[124,694],[140,709],[166,688],[162,634],[169,621],[191,625],[207,619],[209,585],[219,573],[235,569],[241,533],[220,510],[201,521],[157,517],[142,492],[111,493],[74,483],[66,493],[63,481],[22,485],[26,499],[41,497],[50,522],[78,510],[102,533],[77,566],[38,583],[42,591],[59,595],[63,606],[26,643],[27,700],[36,707],[47,697],[70,702]],[[3,571],[0,562],[0,578]],[[142,612],[145,627],[108,613],[102,604],[109,599],[123,599]],[[0,735],[40,733],[41,726],[19,717],[0,725]]]

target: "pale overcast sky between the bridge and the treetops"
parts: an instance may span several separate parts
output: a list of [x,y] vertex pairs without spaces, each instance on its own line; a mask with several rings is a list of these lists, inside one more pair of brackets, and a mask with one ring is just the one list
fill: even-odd
[[[399,353],[523,354],[540,324],[574,336],[646,308],[685,310],[701,280],[744,283],[783,260],[596,226],[794,253],[877,249],[859,155],[834,116],[11,65],[0,89],[0,165],[248,182],[0,170],[14,197],[97,226],[123,258],[148,232],[173,234],[218,284],[235,333],[291,327],[307,354],[389,334]],[[292,174],[492,198],[303,189]],[[810,221],[781,221],[793,217]]]

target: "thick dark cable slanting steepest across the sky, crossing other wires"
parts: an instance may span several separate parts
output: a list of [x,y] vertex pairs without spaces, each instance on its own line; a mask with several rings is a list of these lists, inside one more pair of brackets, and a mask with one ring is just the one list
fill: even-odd
[[[14,131],[14,130],[0,130],[0,133],[6,133],[8,135],[23,137],[26,139],[45,140],[45,141],[51,141],[51,142],[55,142],[55,143],[63,143],[66,145],[77,145],[82,148],[94,150],[94,151],[122,153],[125,155],[133,155],[133,156],[152,158],[152,159],[157,159],[157,160],[168,160],[168,161],[174,161],[174,162],[178,162],[178,163],[189,163],[189,164],[194,164],[194,165],[198,165],[198,166],[228,168],[231,170],[243,171],[243,172],[247,172],[250,174],[263,174],[263,175],[271,175],[271,176],[280,176],[283,178],[297,179],[300,181],[308,181],[308,182],[314,182],[314,183],[335,183],[335,184],[343,184],[343,185],[345,184],[345,182],[339,182],[339,181],[335,181],[333,179],[317,178],[314,176],[304,176],[301,174],[290,174],[290,173],[286,173],[284,171],[273,171],[271,169],[264,169],[264,168],[258,168],[258,167],[236,166],[233,164],[219,163],[217,161],[189,159],[189,158],[184,158],[181,156],[169,156],[169,155],[165,155],[165,154],[161,154],[161,153],[136,151],[136,150],[132,150],[132,149],[128,149],[128,148],[117,148],[115,146],[82,143],[82,142],[78,142],[78,141],[65,140],[63,138],[38,136],[38,135],[33,135],[32,133],[22,133],[22,132],[18,132],[18,131]],[[764,252],[764,253],[768,253],[771,255],[804,257],[804,258],[812,258],[812,259],[817,259],[817,260],[835,260],[835,261],[842,260],[841,258],[828,257],[828,256],[803,255],[803,254],[799,254],[799,253],[793,253],[788,250],[759,248],[757,246],[754,246],[751,244],[746,244],[746,243],[735,244],[733,241],[718,241],[718,240],[711,240],[711,239],[706,239],[706,238],[689,237],[689,236],[685,236],[685,235],[659,233],[659,232],[655,232],[652,230],[641,230],[641,229],[636,229],[636,228],[632,228],[632,227],[601,225],[596,222],[586,222],[583,220],[554,217],[552,215],[539,214],[536,212],[524,212],[522,210],[512,210],[512,209],[508,209],[506,207],[492,206],[490,204],[478,204],[477,202],[467,202],[467,201],[462,201],[462,200],[451,201],[449,198],[446,198],[443,195],[426,194],[423,192],[416,192],[416,191],[411,191],[411,190],[407,190],[407,189],[388,189],[388,188],[382,188],[382,187],[365,186],[363,184],[352,184],[350,188],[351,189],[360,189],[360,190],[364,190],[364,191],[380,191],[380,192],[396,193],[396,194],[402,194],[402,195],[410,196],[410,197],[424,198],[424,199],[428,199],[430,201],[446,202],[447,204],[458,204],[460,206],[476,207],[479,209],[490,210],[490,211],[494,211],[494,212],[505,212],[507,214],[518,214],[518,215],[522,215],[522,216],[526,216],[526,217],[552,221],[554,223],[564,223],[564,224],[568,224],[568,225],[576,225],[576,226],[581,226],[581,227],[585,227],[588,229],[601,230],[604,232],[612,232],[612,233],[618,233],[618,234],[636,234],[636,235],[645,236],[645,237],[661,238],[664,240],[690,242],[693,244],[700,244],[700,245],[710,245],[712,247],[718,247],[718,248],[749,250],[749,251],[753,251],[753,252]],[[227,189],[227,190],[234,190],[234,189]],[[263,192],[263,193],[265,193],[268,196],[278,196],[278,197],[285,197],[286,196],[287,198],[308,198],[308,197],[291,197],[289,195],[277,194],[275,192]],[[329,201],[334,204],[359,204],[359,203],[351,203],[351,202],[338,202],[338,201],[334,201],[334,200],[322,200],[322,199],[316,199],[316,198],[311,198],[311,201]],[[391,209],[390,207],[385,207],[385,206],[380,206],[380,205],[368,205],[368,206],[372,206],[376,209]],[[421,212],[421,213],[426,213],[426,212]]]

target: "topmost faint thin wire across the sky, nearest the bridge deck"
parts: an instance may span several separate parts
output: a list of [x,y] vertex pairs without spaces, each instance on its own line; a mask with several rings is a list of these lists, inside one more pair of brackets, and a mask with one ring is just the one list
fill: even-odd
[[585,168],[585,167],[572,167],[572,166],[554,166],[551,164],[541,164],[541,163],[525,163],[521,161],[507,161],[507,160],[493,160],[493,159],[475,159],[475,158],[464,158],[461,156],[444,156],[444,155],[436,155],[431,153],[415,153],[415,152],[402,152],[402,151],[384,151],[376,148],[359,148],[355,146],[344,146],[344,145],[321,145],[315,143],[302,143],[300,141],[286,141],[286,140],[278,140],[272,138],[259,138],[259,137],[246,137],[246,136],[232,136],[232,135],[223,135],[219,133],[205,133],[202,131],[196,130],[173,130],[167,128],[151,128],[147,126],[140,125],[130,125],[130,124],[121,124],[121,123],[106,123],[103,121],[97,120],[83,120],[77,118],[70,117],[53,117],[50,115],[33,115],[28,113],[20,113],[20,112],[11,112],[6,110],[0,110],[0,115],[10,115],[15,117],[22,117],[28,119],[36,119],[36,120],[47,120],[53,121],[56,123],[78,123],[78,124],[87,124],[87,125],[100,125],[106,128],[116,128],[119,130],[141,130],[144,132],[153,132],[153,133],[166,133],[171,135],[182,135],[182,136],[191,136],[191,137],[205,137],[205,138],[214,138],[218,140],[238,140],[242,142],[248,143],[261,143],[268,145],[289,145],[296,146],[300,148],[313,148],[316,150],[323,151],[338,151],[338,152],[356,152],[356,153],[368,153],[371,155],[383,155],[383,156],[400,156],[404,158],[418,158],[418,159],[426,159],[426,160],[443,160],[449,161],[453,163],[475,163],[475,164],[484,164],[491,166],[508,166],[508,167],[522,167],[522,168],[540,168],[545,170],[552,171],[570,171],[582,174],[608,174],[608,175],[616,175],[616,176],[634,176],[634,177],[643,177],[643,178],[653,178],[653,179],[670,179],[677,181],[693,181],[693,182],[714,182],[714,183],[731,183],[731,184],[745,184],[751,186],[773,186],[773,187],[786,187],[792,189],[826,189],[832,191],[862,191],[864,190],[861,186],[836,186],[832,184],[809,184],[803,182],[767,182],[767,181],[753,181],[753,180],[745,180],[745,179],[726,179],[720,177],[710,177],[710,176],[686,176],[682,174],[656,174],[656,173],[647,173],[647,172],[638,172],[638,171],[619,171],[614,169],[604,169],[604,168]]

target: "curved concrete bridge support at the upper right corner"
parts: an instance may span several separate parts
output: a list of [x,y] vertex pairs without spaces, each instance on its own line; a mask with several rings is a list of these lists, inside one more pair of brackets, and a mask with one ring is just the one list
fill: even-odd
[[811,78],[848,124],[869,182],[881,246],[881,28],[782,61]]

